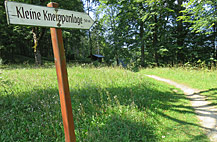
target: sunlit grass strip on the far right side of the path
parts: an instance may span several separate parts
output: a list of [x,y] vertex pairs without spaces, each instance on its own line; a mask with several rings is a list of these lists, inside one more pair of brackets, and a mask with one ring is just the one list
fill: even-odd
[[211,105],[217,105],[217,70],[192,70],[188,68],[153,68],[140,71],[164,77],[200,90]]

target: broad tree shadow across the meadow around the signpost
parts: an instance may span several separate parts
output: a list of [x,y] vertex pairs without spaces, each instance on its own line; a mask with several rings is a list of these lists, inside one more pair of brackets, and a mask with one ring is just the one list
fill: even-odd
[[[184,95],[152,85],[158,84],[70,88],[77,141],[159,141],[158,116],[180,125],[201,127],[164,113],[193,113],[193,109],[173,104],[185,100]],[[0,141],[64,141],[57,88],[5,91],[0,100]],[[119,112],[121,107],[124,113]]]

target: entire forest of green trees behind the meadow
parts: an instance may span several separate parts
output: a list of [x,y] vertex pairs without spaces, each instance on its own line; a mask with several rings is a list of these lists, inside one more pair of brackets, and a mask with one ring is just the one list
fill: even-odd
[[[46,0],[16,0],[46,6]],[[94,17],[90,30],[63,29],[68,62],[216,67],[216,0],[53,0]],[[49,28],[8,25],[0,1],[0,64],[53,61]]]

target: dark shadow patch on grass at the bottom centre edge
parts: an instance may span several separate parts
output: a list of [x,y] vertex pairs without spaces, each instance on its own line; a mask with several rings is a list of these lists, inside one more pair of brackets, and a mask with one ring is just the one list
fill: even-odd
[[157,141],[154,126],[136,122],[119,114],[112,114],[105,125],[95,126],[89,132],[86,141],[125,142],[125,141]]

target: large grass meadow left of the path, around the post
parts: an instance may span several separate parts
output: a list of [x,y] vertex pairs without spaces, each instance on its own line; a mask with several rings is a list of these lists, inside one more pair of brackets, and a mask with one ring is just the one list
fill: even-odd
[[[64,142],[55,67],[0,72],[0,141]],[[145,72],[69,65],[77,141],[209,141],[183,93]]]

